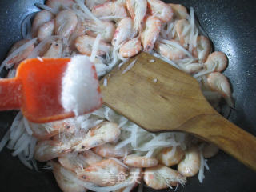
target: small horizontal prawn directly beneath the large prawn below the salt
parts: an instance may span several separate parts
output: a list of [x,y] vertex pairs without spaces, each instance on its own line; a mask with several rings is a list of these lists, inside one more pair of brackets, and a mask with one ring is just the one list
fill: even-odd
[[107,143],[102,146],[96,146],[92,150],[94,151],[94,153],[99,154],[104,158],[121,158],[129,152],[129,149],[127,147],[123,147],[118,150],[116,150],[114,147],[114,145]]

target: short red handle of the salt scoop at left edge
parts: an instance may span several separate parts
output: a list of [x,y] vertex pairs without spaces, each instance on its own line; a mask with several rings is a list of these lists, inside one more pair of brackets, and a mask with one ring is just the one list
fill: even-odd
[[0,79],[0,110],[18,110],[21,101],[21,81],[17,78]]

